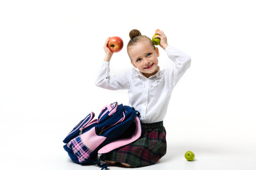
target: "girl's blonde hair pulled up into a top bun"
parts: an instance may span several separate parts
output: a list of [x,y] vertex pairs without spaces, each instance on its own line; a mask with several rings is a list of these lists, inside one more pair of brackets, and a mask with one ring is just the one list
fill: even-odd
[[[129,37],[131,38],[131,40],[128,42],[128,45],[127,45],[127,53],[129,55],[129,52],[128,52],[128,48],[133,46],[133,45],[136,45],[138,42],[141,42],[143,40],[147,40],[151,46],[154,48],[154,50],[156,50],[156,47],[154,45],[154,43],[152,42],[152,40],[147,37],[146,35],[141,35],[141,32],[139,30],[136,30],[136,29],[133,29],[130,31],[129,33]],[[130,57],[130,55],[129,55]],[[131,59],[131,57],[130,57]]]

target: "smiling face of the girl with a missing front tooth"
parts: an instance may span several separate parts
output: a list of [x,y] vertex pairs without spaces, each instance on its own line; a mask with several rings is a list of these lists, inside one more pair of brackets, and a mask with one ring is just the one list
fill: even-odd
[[156,74],[159,50],[156,50],[151,46],[151,44],[144,40],[133,45],[128,50],[131,57],[131,63],[135,68],[138,68],[145,77],[150,77]]

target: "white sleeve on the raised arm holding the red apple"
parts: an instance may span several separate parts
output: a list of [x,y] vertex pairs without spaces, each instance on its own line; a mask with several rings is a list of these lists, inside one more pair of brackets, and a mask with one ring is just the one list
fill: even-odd
[[108,90],[129,89],[129,72],[110,76],[110,62],[104,61],[95,81],[95,85]]

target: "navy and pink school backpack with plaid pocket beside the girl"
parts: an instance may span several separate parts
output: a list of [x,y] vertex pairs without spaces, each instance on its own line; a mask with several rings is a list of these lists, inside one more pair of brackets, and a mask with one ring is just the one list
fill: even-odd
[[[103,156],[121,146],[128,145],[141,136],[140,113],[133,107],[111,103],[102,108],[97,119],[90,112],[63,140],[63,146],[74,163],[97,164],[102,170],[108,164],[100,164]],[[97,159],[98,154],[102,154]]]

